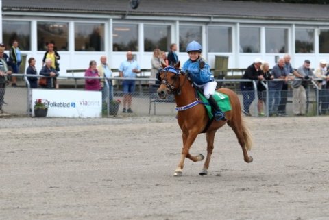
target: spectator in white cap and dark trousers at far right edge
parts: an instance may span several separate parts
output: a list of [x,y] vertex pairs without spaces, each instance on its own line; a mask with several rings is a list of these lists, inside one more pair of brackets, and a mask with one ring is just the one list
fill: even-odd
[[320,60],[320,66],[318,69],[315,70],[315,76],[320,78],[321,81],[319,81],[319,114],[326,114],[326,112],[329,110],[329,93],[326,89],[329,84],[329,75],[327,72],[327,61],[326,60]]

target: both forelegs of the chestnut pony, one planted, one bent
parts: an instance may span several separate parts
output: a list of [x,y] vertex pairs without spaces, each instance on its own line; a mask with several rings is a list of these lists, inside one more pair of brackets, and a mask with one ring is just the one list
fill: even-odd
[[181,154],[181,157],[180,157],[180,162],[178,164],[178,167],[175,169],[175,173],[173,175],[175,175],[175,176],[182,175],[185,158],[191,159],[194,162],[197,162],[199,160],[204,159],[204,156],[201,155],[201,154],[199,154],[197,156],[191,156],[191,154],[189,153],[190,148],[191,148],[195,138],[197,138],[197,133],[196,134],[191,134],[191,132],[189,132],[188,134],[183,133],[182,154]]

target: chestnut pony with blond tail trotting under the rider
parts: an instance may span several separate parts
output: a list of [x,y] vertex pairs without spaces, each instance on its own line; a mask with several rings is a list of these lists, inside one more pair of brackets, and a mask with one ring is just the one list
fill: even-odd
[[[164,69],[162,69],[159,75],[161,84],[158,88],[158,96],[161,99],[166,99],[167,94],[173,94],[176,105],[178,107],[183,107],[197,101],[197,97],[195,95],[196,93],[193,83],[189,80],[187,74],[180,72],[179,66],[180,62],[171,67],[162,64]],[[226,119],[224,121],[212,121],[210,126],[208,126],[208,129],[206,129],[207,156],[206,161],[204,162],[204,168],[199,175],[207,175],[212,149],[214,148],[215,133],[226,123],[232,128],[238,138],[245,162],[252,162],[252,157],[247,154],[247,150],[252,148],[252,136],[241,117],[239,97],[234,91],[228,88],[220,88],[217,91],[228,95],[232,109],[225,112]],[[186,110],[181,108],[180,111],[178,111],[177,119],[180,129],[182,130],[183,148],[180,162],[175,169],[174,175],[180,176],[183,173],[185,158],[188,158],[193,162],[204,159],[202,154],[192,156],[189,153],[189,150],[195,138],[197,138],[197,135],[204,131],[209,118],[204,105],[198,103],[192,108]]]

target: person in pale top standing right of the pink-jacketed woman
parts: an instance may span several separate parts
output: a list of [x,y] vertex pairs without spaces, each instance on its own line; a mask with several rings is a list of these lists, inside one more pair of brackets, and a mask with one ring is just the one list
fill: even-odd
[[[100,77],[112,78],[112,71],[110,66],[108,66],[106,56],[101,56],[101,63],[97,66],[97,70]],[[105,101],[108,97],[110,101],[113,100],[113,86],[112,80],[108,80],[108,88],[105,86],[105,80],[101,79],[101,97]]]

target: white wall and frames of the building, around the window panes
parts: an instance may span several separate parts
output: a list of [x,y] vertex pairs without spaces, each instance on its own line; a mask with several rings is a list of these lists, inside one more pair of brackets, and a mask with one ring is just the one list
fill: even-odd
[[[34,13],[31,14],[27,12],[26,14],[17,14],[14,12],[3,12],[3,22],[5,21],[27,21],[30,23],[30,49],[22,51],[26,53],[27,56],[34,56],[37,60],[36,67],[37,69],[41,69],[42,66],[42,57],[45,51],[38,50],[38,29],[37,24],[40,22],[62,22],[68,24],[68,49],[67,51],[59,51],[61,59],[60,59],[60,74],[65,75],[66,69],[86,69],[88,68],[88,63],[90,60],[97,60],[99,62],[99,57],[102,55],[108,56],[108,62],[113,69],[119,68],[120,63],[125,60],[125,51],[114,51],[116,50],[113,47],[114,40],[114,29],[113,25],[116,24],[136,24],[138,28],[138,42],[137,42],[137,51],[133,51],[136,54],[137,61],[141,64],[142,69],[150,69],[151,68],[151,51],[144,51],[144,48],[147,45],[144,45],[145,33],[144,28],[145,25],[164,25],[169,26],[170,34],[168,34],[167,47],[171,42],[175,42],[178,44],[180,52],[178,52],[178,56],[180,60],[184,63],[187,59],[187,53],[182,51],[183,49],[180,47],[184,47],[184,44],[180,45],[180,30],[182,27],[188,30],[195,28],[200,29],[200,33],[195,36],[195,38],[199,38],[200,42],[204,47],[203,56],[208,60],[210,66],[213,68],[215,64],[215,56],[228,56],[229,68],[246,68],[249,64],[252,64],[254,58],[260,57],[263,60],[269,62],[270,66],[275,64],[276,58],[282,57],[285,53],[289,53],[291,55],[291,62],[293,67],[297,68],[301,66],[305,59],[311,61],[311,66],[313,68],[318,66],[318,62],[321,59],[329,60],[329,49],[326,53],[319,53],[319,36],[321,31],[323,33],[327,32],[329,26],[326,23],[322,22],[311,22],[308,23],[300,22],[300,21],[275,21],[275,20],[252,20],[252,19],[212,19],[209,21],[204,18],[173,18],[173,17],[157,17],[157,16],[130,16],[126,19],[122,19],[117,16],[104,16],[104,15],[95,15],[95,16],[86,16],[85,14],[45,14],[45,13]],[[86,24],[86,28],[88,24],[101,23],[103,26],[103,51],[76,51],[75,46],[75,25],[76,24]],[[216,45],[216,42],[211,42],[209,37],[209,28],[208,27],[229,27],[231,32],[230,37],[230,51],[228,52],[208,52],[210,49]],[[247,33],[248,29],[258,29],[259,34],[256,34],[259,37],[259,42],[257,42],[259,51],[252,53],[242,53],[241,52],[241,38],[245,37],[245,35],[241,34]],[[225,29],[225,28],[224,28]],[[287,40],[287,47],[285,47],[285,51],[269,51],[267,47],[271,45],[269,43],[269,39],[271,39],[271,35],[276,34],[276,30],[281,32],[284,29],[284,37]],[[296,29],[308,29],[310,33],[308,35],[309,38],[313,38],[313,50],[308,53],[295,53],[295,39],[300,36],[295,36]],[[17,30],[19,31],[19,30]],[[3,29],[5,32],[5,29]],[[219,32],[220,33],[220,32]],[[300,32],[298,32],[300,33]],[[248,34],[248,33],[247,33]],[[250,34],[250,33],[249,33]],[[259,36],[258,36],[259,35]],[[219,44],[221,42],[221,34],[215,34],[219,38]],[[329,36],[329,35],[328,35]],[[307,35],[306,35],[307,37]],[[326,37],[326,35],[324,36]],[[188,39],[193,39],[193,36]],[[212,41],[214,39],[214,34],[212,34]],[[40,40],[40,39],[39,39]],[[274,38],[275,40],[275,38]],[[323,37],[321,38],[322,44],[324,44]],[[248,41],[248,40],[247,40]],[[252,38],[250,38],[251,45],[253,44]],[[256,44],[256,42],[255,42]],[[325,45],[326,46],[326,45]],[[329,47],[328,47],[329,48]],[[167,48],[168,50],[169,48]]]

